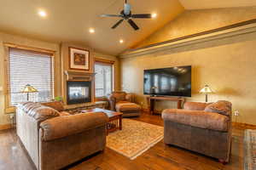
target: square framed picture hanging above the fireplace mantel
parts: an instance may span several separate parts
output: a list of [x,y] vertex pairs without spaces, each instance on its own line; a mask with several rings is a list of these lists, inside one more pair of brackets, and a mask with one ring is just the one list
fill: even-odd
[[69,48],[70,69],[89,71],[90,52],[80,48]]

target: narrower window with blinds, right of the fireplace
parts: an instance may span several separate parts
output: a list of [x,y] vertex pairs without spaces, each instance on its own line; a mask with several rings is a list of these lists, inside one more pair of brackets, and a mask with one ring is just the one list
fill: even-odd
[[113,91],[113,63],[96,61],[95,72],[96,98],[111,94]]

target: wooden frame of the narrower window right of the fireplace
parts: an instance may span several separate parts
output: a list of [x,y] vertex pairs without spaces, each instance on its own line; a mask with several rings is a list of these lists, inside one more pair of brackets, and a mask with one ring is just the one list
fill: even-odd
[[[112,91],[114,91],[115,89],[115,70],[114,70],[114,60],[110,60],[110,59],[101,59],[101,58],[95,58],[94,59],[94,65],[93,65],[93,69],[95,69],[95,65],[96,63],[102,64],[102,65],[111,65],[112,66]],[[95,93],[95,100],[96,101],[101,101],[101,100],[105,100],[107,98],[107,96],[102,96],[102,97],[96,97],[96,81],[94,81],[94,93]]]

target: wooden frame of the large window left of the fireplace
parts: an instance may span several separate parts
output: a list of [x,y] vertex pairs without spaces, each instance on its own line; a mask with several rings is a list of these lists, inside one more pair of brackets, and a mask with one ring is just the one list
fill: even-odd
[[[10,113],[15,113],[15,106],[9,106],[9,92],[10,92],[10,85],[9,85],[9,50],[10,48],[16,48],[16,49],[22,49],[22,50],[27,50],[27,51],[32,51],[36,53],[42,53],[42,54],[49,54],[49,56],[52,58],[52,70],[54,71],[54,74],[52,76],[53,82],[55,82],[55,54],[56,52],[54,50],[49,50],[49,49],[44,49],[44,48],[32,48],[32,47],[27,47],[23,45],[17,45],[14,43],[8,43],[8,42],[3,42],[3,47],[4,47],[4,81],[5,83],[3,84],[3,92],[4,92],[4,111],[5,114],[10,114]],[[53,97],[55,96],[55,83],[53,83]]]

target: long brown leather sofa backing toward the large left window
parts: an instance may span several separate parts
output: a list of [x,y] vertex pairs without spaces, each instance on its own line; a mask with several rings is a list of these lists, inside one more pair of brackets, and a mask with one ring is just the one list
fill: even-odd
[[16,117],[20,141],[39,170],[60,169],[105,149],[105,113],[69,115],[57,102],[27,102]]

